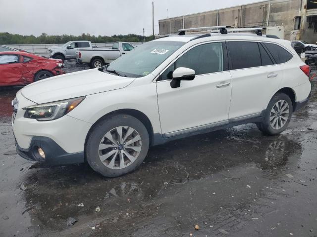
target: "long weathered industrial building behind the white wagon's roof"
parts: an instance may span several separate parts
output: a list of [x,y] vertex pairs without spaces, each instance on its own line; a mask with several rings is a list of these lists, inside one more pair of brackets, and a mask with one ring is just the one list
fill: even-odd
[[284,27],[286,40],[317,41],[317,0],[265,0],[159,20],[159,35],[217,25]]

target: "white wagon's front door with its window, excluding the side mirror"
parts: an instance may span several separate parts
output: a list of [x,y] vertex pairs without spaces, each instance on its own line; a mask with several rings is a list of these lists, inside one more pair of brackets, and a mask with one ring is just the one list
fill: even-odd
[[[159,118],[164,137],[195,132],[227,123],[231,76],[222,42],[194,46],[175,60],[157,81]],[[178,67],[195,70],[194,80],[171,88]]]

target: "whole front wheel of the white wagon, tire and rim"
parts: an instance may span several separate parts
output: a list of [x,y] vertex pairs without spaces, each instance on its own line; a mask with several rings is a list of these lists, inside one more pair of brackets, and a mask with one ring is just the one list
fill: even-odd
[[130,115],[114,115],[99,121],[88,135],[85,156],[89,165],[105,177],[135,170],[150,145],[144,124]]

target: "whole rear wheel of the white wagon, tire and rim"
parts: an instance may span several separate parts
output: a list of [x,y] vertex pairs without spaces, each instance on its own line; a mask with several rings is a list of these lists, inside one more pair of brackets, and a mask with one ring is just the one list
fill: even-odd
[[286,129],[292,112],[293,104],[289,96],[284,93],[276,93],[266,108],[264,121],[258,123],[257,126],[265,134],[279,134]]

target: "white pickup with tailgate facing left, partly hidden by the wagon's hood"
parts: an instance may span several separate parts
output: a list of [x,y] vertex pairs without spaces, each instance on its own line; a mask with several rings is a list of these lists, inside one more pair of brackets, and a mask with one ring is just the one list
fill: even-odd
[[100,68],[132,49],[134,47],[130,43],[114,42],[112,48],[79,49],[76,51],[76,60],[89,64],[91,68]]

